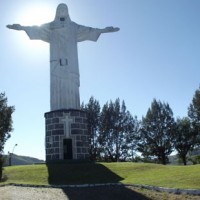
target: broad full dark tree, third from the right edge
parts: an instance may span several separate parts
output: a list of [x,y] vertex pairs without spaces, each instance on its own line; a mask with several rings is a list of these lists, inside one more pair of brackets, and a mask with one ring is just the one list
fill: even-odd
[[144,157],[157,157],[165,165],[173,151],[174,133],[175,121],[169,104],[154,99],[142,118],[138,151]]

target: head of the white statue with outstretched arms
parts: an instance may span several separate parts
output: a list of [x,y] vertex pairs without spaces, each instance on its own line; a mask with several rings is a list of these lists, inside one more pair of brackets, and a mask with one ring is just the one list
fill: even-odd
[[68,7],[66,4],[61,3],[58,5],[57,9],[56,9],[56,17],[55,20],[59,20],[59,21],[69,21],[70,17],[69,17],[69,12],[68,12]]

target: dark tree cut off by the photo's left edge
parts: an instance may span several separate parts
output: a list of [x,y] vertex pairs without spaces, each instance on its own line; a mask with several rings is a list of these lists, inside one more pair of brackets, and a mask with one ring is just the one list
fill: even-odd
[[2,178],[2,152],[5,142],[10,137],[12,131],[12,113],[14,112],[13,106],[7,105],[7,98],[5,93],[0,93],[0,180]]

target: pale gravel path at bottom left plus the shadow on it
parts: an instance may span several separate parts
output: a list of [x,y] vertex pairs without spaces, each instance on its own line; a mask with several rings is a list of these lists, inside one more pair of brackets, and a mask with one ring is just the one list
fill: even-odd
[[0,200],[148,200],[126,187],[34,188],[0,187]]

